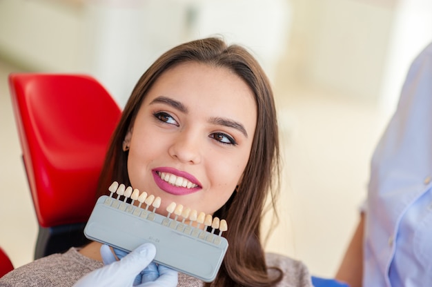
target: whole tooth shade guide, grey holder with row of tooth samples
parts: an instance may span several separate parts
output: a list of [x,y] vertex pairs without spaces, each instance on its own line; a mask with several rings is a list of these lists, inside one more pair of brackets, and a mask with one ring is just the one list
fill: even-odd
[[[134,192],[135,195],[132,195]],[[121,190],[119,193],[121,193]],[[167,246],[176,246],[176,249],[181,250],[180,253],[175,253],[175,255],[164,254],[162,257],[159,257],[160,260],[159,258],[155,259],[161,264],[168,262],[171,264],[173,261],[170,257],[175,256],[177,257],[177,259],[175,259],[177,263],[173,265],[175,270],[192,276],[203,276],[204,280],[208,280],[209,282],[214,280],[215,277],[208,277],[208,272],[211,272],[211,276],[215,276],[213,270],[215,270],[215,272],[219,270],[219,262],[222,261],[226,248],[228,248],[228,241],[221,236],[222,232],[227,229],[226,221],[225,224],[222,223],[221,226],[219,218],[213,218],[211,215],[206,215],[204,212],[197,212],[197,210],[191,212],[190,208],[184,208],[181,204],[175,204],[173,205],[173,209],[169,210],[175,215],[175,219],[170,219],[156,213],[157,211],[155,212],[155,210],[150,212],[147,208],[138,207],[139,191],[131,191],[130,188],[126,188],[123,193],[124,194],[121,196],[130,198],[130,200],[124,200],[124,197],[115,199],[107,195],[98,199],[92,216],[90,216],[86,226],[86,228],[90,226],[90,231],[85,232],[88,239],[111,246],[119,246],[119,248],[124,248],[124,250],[133,250],[133,248],[136,248],[136,240],[138,240],[138,242],[151,241],[160,249],[166,249]],[[107,201],[110,201],[111,204],[107,204]],[[137,201],[135,205],[134,201]],[[161,206],[160,197],[158,199],[157,197],[155,198],[154,195],[144,198],[141,197],[141,201],[144,201],[142,203],[146,204],[150,204],[151,201],[150,205],[155,208]],[[94,213],[95,216],[93,217]],[[181,220],[178,219],[180,216]],[[195,219],[196,222],[193,222],[192,219]],[[166,224],[164,224],[164,221],[166,221]],[[184,222],[186,222],[186,224],[184,224]],[[215,230],[218,229],[218,223],[219,236],[215,234]],[[166,228],[169,228],[170,231]],[[122,230],[120,237],[116,230]],[[159,241],[159,239],[163,240]],[[191,242],[193,242],[193,244],[190,244]],[[206,254],[206,259],[202,259],[202,254]],[[190,259],[191,256],[199,259],[195,262],[195,265],[201,266],[199,267],[199,272],[195,271],[197,270],[196,267],[193,269],[184,267],[184,261]],[[216,258],[219,258],[219,261],[216,261]],[[186,264],[186,266],[188,266],[188,264]]]

